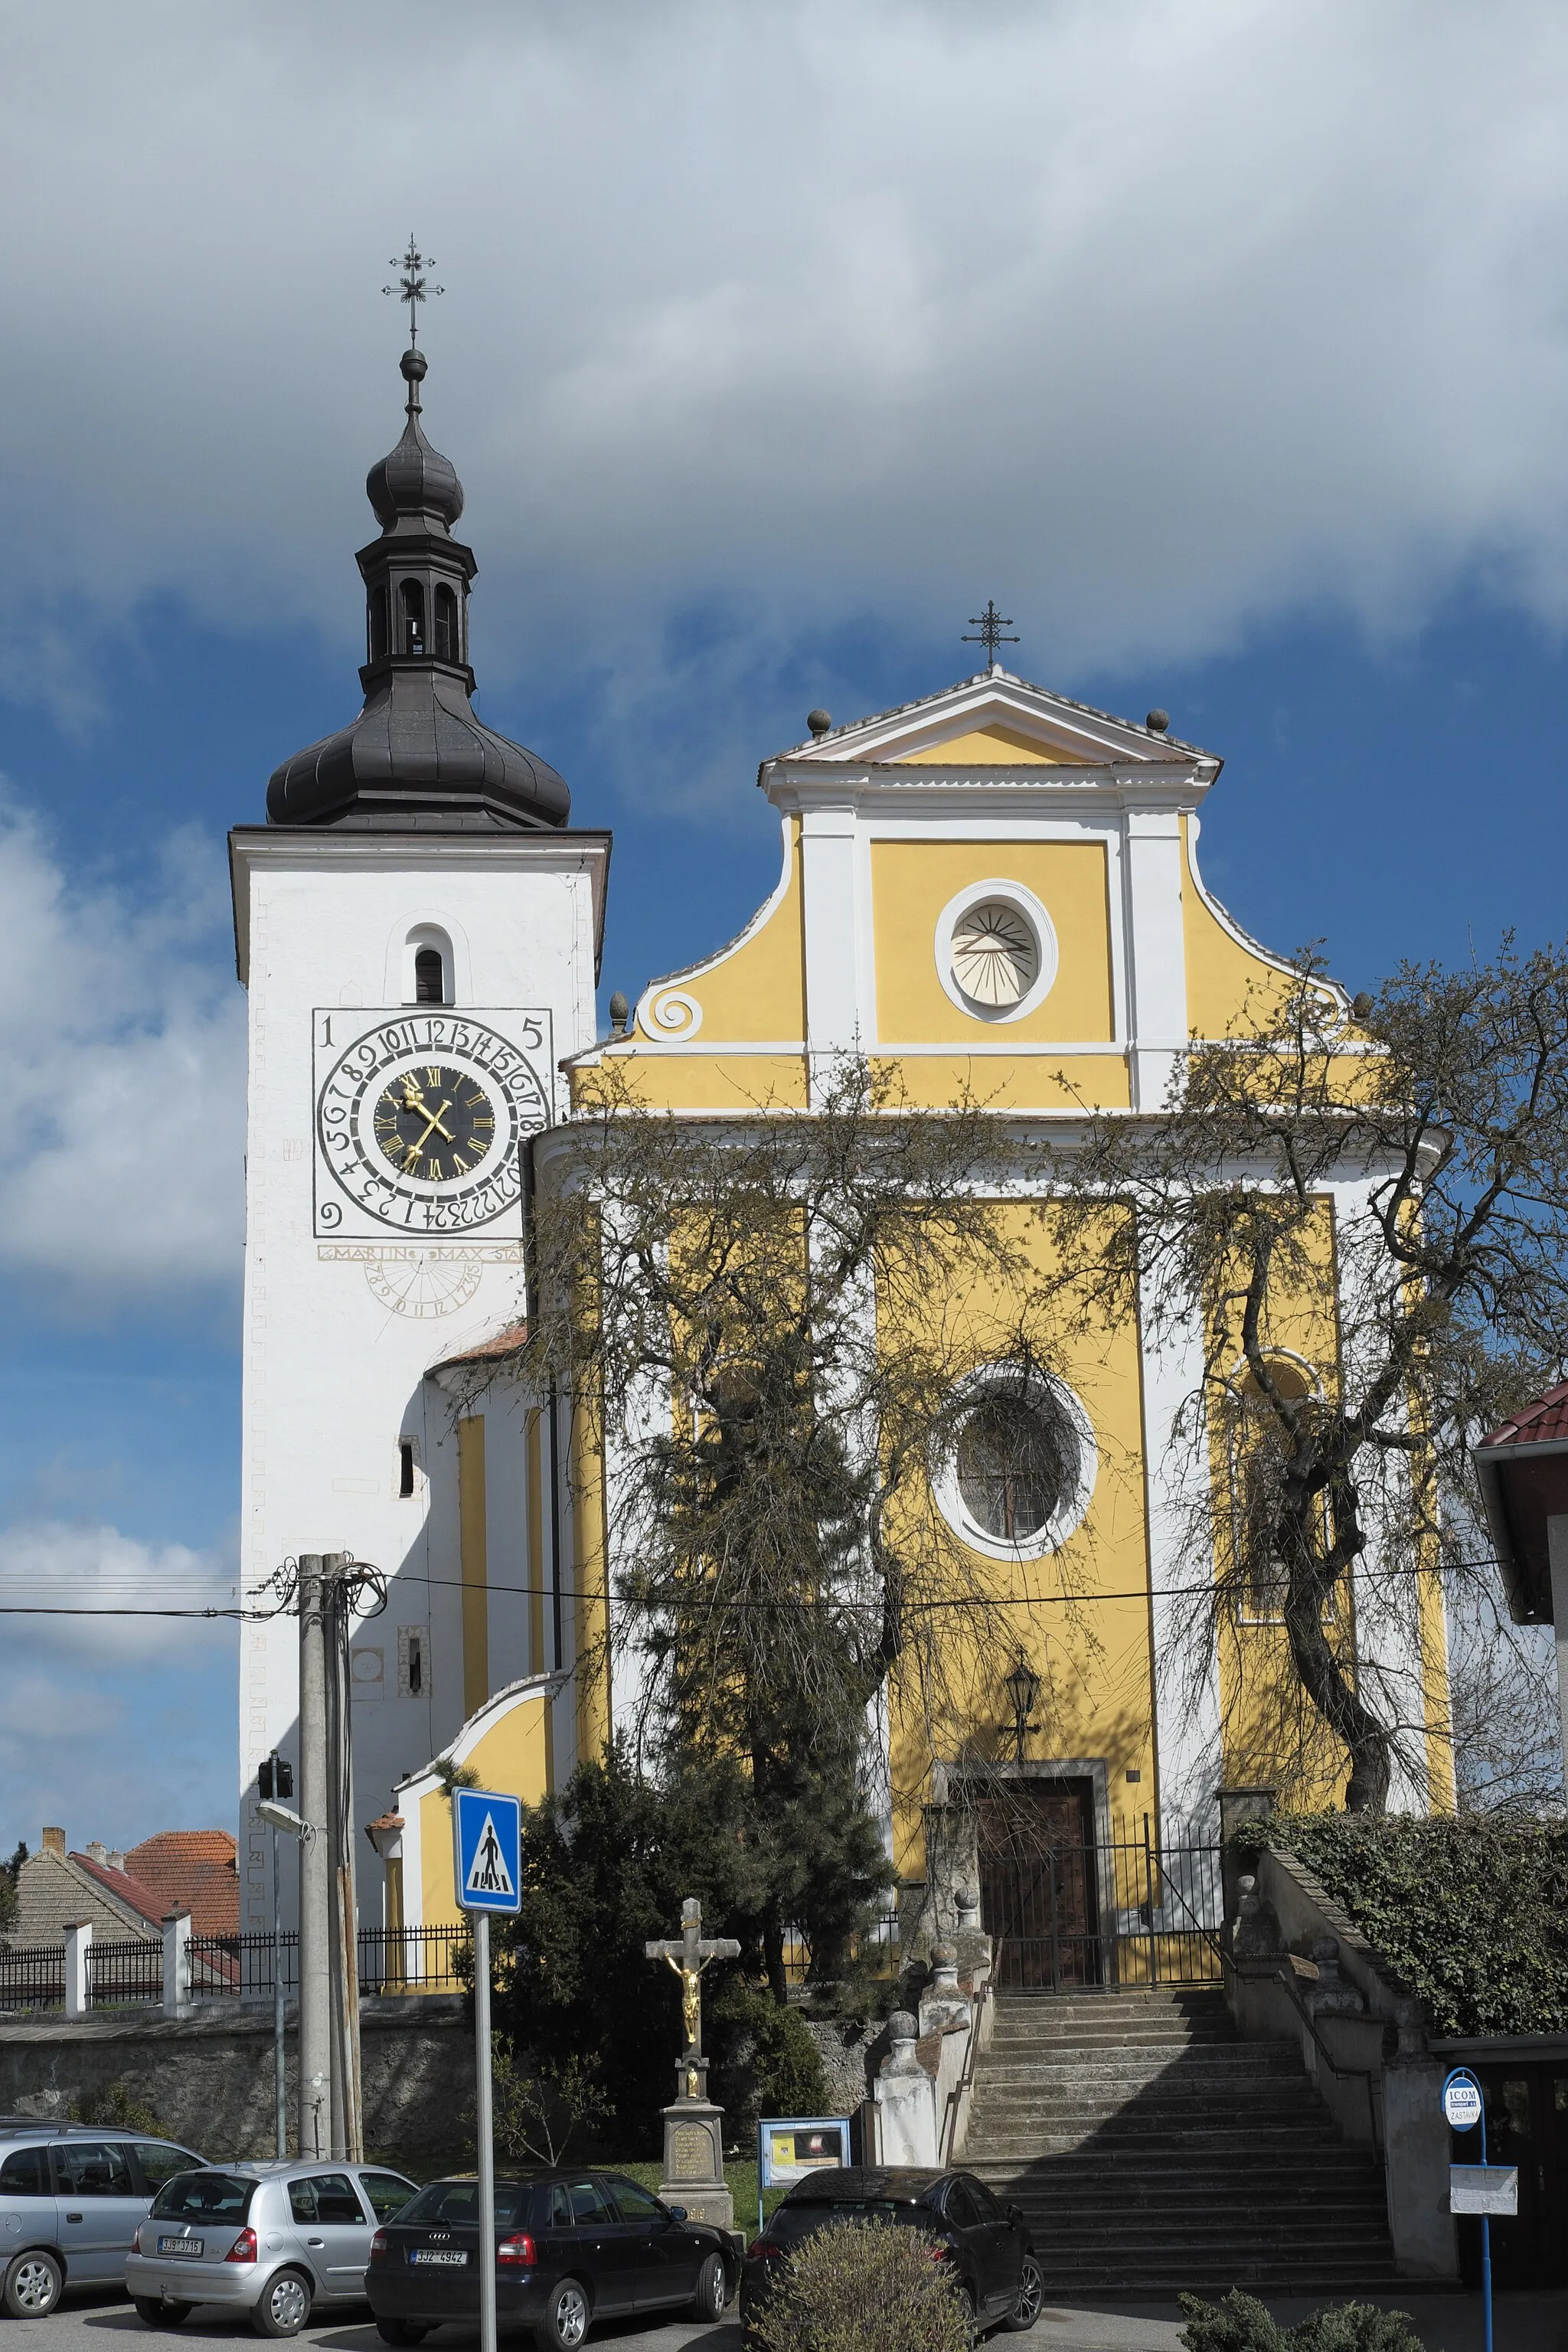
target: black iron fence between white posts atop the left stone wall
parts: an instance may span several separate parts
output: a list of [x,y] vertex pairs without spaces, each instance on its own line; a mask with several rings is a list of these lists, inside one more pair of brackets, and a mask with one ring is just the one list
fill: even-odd
[[[473,1983],[473,1936],[463,1922],[447,1926],[360,1929],[360,1992],[463,1992]],[[87,1947],[94,2009],[162,2002],[162,1943],[139,1936]],[[190,1936],[193,2002],[270,2002],[277,1973],[284,1999],[299,1992],[299,1933]],[[0,2011],[63,2009],[66,1952],[61,1945],[0,1950]]]

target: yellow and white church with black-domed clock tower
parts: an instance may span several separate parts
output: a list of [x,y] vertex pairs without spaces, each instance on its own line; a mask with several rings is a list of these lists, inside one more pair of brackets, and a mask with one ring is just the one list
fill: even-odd
[[[230,858],[249,993],[244,1595],[266,1609],[301,1550],[386,1573],[350,1651],[355,1806],[381,1856],[360,1849],[360,1915],[411,1929],[454,1917],[454,1769],[536,1802],[639,1708],[614,1639],[602,1670],[614,1602],[578,1425],[517,1355],[527,1188],[574,1091],[621,1061],[675,1115],[799,1115],[835,1056],[863,1054],[907,1103],[973,1091],[1046,1134],[1084,1105],[1157,1110],[1190,1042],[1227,1035],[1288,967],[1199,873],[1220,760],[1161,713],[1119,720],[1011,675],[992,630],[976,675],[851,724],[811,713],[762,762],[773,894],[602,1033],[611,840],[473,710],[463,492],[423,433],[416,348],[402,374],[404,433],[367,482],[381,532],[357,555],[364,708],[277,767]],[[1020,1736],[1011,1769],[1060,1788],[1091,1846],[1213,1837],[1218,1790],[1260,1778],[1227,1755],[1218,1686],[1194,1703],[1161,1675],[1194,1571],[1159,1484],[1192,1350],[1197,1334],[1154,1348],[1128,1324],[1053,1367],[1072,1472],[1032,1510],[999,1517],[985,1482],[933,1477],[931,1508],[978,1562],[1060,1569],[1079,1595],[1081,1642],[1041,1602],[994,1682],[1018,1661],[1053,1677],[1048,1736],[1027,1764]],[[980,1404],[987,1367],[973,1378]],[[1436,1590],[1361,1637],[1439,1693],[1396,1802],[1450,1804]],[[270,1917],[256,1766],[294,1752],[296,1661],[292,1616],[244,1625],[242,1926]],[[910,1889],[959,1769],[922,1757],[886,1790]]]

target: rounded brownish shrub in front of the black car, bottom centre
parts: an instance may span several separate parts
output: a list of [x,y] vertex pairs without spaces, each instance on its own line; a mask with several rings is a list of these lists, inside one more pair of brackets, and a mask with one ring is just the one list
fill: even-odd
[[891,2220],[818,2230],[752,2321],[757,2352],[969,2352],[959,2281]]

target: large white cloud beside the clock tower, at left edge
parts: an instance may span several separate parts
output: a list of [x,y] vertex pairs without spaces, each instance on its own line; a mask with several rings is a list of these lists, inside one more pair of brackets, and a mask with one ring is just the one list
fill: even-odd
[[150,889],[78,884],[0,797],[0,1270],[68,1312],[237,1287],[244,1000],[223,927],[212,844],[172,837]]

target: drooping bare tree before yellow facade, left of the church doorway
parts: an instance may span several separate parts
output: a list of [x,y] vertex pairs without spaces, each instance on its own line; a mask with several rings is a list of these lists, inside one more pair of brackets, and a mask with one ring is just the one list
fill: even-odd
[[1048,1378],[1058,1303],[1016,1171],[983,1105],[912,1108],[853,1056],[811,1110],[729,1120],[642,1108],[611,1058],[545,1157],[529,1357],[602,1416],[646,1738],[745,1759],[823,1971],[853,1924],[832,1858],[867,1750],[924,1776],[994,1717],[1011,1661],[1025,1576],[978,1559],[931,1486],[978,1364]]

